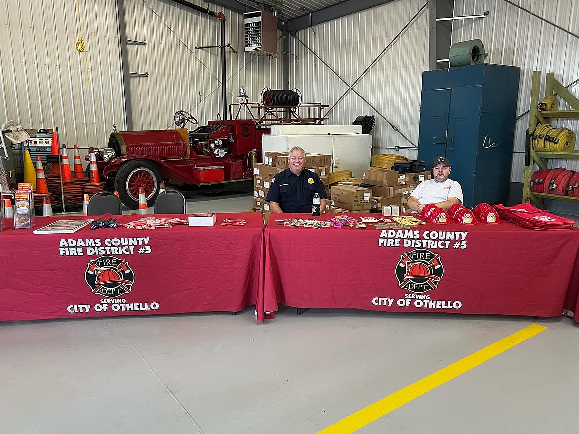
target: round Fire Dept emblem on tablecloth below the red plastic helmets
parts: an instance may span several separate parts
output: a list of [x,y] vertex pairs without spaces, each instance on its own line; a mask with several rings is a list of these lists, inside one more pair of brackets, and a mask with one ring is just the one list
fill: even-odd
[[444,276],[440,255],[426,249],[415,249],[402,253],[396,265],[396,278],[400,288],[415,294],[437,289]]

